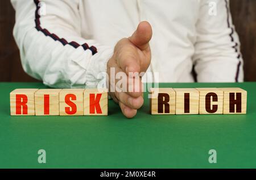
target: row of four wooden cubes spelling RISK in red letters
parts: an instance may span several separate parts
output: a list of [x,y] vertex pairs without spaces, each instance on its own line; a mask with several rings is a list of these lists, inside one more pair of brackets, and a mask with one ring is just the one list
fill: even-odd
[[108,115],[107,89],[16,89],[11,115]]

